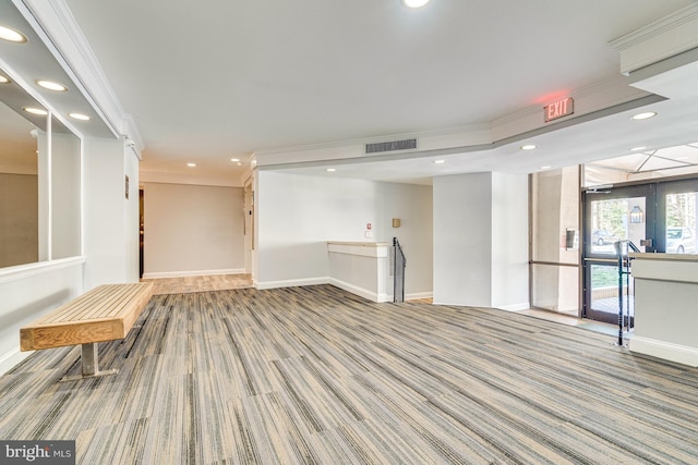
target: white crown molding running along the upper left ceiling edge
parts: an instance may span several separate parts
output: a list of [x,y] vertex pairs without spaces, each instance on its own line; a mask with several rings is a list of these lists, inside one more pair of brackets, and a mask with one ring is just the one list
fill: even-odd
[[140,154],[143,138],[133,118],[123,109],[97,57],[64,0],[14,0],[22,2],[48,36],[67,73],[81,86],[95,111],[116,137],[128,136]]

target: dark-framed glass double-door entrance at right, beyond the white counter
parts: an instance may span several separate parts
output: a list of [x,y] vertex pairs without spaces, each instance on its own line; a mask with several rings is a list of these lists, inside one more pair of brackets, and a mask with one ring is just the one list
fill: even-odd
[[[582,317],[624,325],[634,319],[634,282],[623,273],[617,246],[640,252],[695,254],[698,179],[588,189],[582,194]],[[622,268],[623,267],[623,268]]]

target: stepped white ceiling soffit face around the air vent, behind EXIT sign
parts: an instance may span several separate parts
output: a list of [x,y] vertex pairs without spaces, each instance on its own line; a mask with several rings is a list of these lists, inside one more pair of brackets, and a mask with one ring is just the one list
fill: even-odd
[[[622,56],[621,72],[615,78],[571,91],[575,114],[555,124],[545,123],[543,107],[525,108],[486,125],[456,129],[449,132],[400,134],[381,139],[353,140],[327,145],[292,147],[254,154],[260,168],[284,164],[361,159],[366,161],[363,146],[370,142],[417,137],[419,149],[384,158],[414,158],[438,155],[440,150],[486,150],[525,137],[587,122],[614,112],[627,111],[664,97],[696,97],[698,87],[698,4],[686,7],[610,44]],[[633,73],[630,73],[633,71]],[[628,76],[629,74],[629,76]],[[690,95],[686,94],[689,89]],[[651,99],[654,100],[651,100]],[[648,100],[650,99],[650,100]],[[561,124],[563,123],[563,124]],[[387,158],[386,158],[387,157]]]

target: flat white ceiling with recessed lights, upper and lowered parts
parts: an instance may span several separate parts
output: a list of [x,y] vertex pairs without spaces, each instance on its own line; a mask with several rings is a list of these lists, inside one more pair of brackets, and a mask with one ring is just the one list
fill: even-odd
[[[624,79],[610,41],[690,0],[65,0],[144,140],[142,169],[239,179],[253,152],[492,124]],[[690,96],[690,98],[695,98]],[[429,182],[531,172],[698,139],[698,106],[630,110],[488,150],[339,162],[333,175]],[[642,140],[639,140],[642,139]],[[372,160],[381,160],[375,158]],[[292,161],[292,160],[289,160]],[[327,163],[294,171],[326,174]]]

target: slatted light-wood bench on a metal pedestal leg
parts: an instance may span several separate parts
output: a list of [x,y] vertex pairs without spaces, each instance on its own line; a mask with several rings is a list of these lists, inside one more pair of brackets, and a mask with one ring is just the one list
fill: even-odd
[[82,377],[77,378],[113,375],[118,370],[99,371],[97,343],[124,339],[152,295],[152,282],[97,286],[20,329],[21,350],[80,344]]

